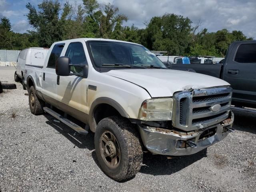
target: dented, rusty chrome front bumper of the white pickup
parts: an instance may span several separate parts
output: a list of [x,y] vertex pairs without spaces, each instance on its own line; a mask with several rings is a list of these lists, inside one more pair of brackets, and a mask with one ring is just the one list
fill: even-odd
[[183,156],[195,154],[233,132],[234,114],[230,111],[228,119],[199,130],[180,132],[163,128],[138,125],[144,146],[153,154]]

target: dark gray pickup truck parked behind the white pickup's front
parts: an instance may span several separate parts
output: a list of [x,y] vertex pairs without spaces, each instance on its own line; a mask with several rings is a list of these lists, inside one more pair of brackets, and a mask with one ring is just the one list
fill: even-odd
[[170,64],[171,69],[190,68],[221,78],[233,88],[232,104],[256,108],[256,41],[233,42],[223,64]]

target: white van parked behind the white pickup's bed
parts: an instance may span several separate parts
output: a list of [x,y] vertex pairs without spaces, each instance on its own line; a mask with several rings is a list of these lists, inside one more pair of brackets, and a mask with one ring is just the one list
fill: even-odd
[[[24,72],[26,65],[43,67],[44,59],[46,58],[48,48],[41,47],[30,47],[20,51],[17,60],[16,71],[14,74],[14,80],[19,82],[22,80],[22,84],[24,82]],[[23,84],[23,88],[24,84]]]

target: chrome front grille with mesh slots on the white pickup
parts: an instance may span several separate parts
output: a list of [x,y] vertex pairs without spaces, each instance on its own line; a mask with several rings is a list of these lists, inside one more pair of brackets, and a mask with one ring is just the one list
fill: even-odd
[[[218,124],[228,117],[232,88],[218,87],[182,91],[174,94],[172,125],[191,131]],[[220,110],[210,108],[220,104]]]

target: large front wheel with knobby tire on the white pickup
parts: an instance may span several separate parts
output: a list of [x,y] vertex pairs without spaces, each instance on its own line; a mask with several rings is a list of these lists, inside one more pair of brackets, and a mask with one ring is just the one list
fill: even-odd
[[94,145],[100,167],[114,180],[127,180],[140,170],[143,154],[139,134],[126,118],[102,119],[96,128]]

